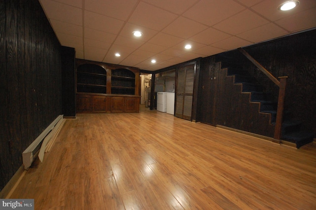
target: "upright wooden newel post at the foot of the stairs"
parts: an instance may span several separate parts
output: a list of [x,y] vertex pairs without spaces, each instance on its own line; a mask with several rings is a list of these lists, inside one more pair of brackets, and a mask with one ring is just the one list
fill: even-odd
[[281,138],[281,127],[282,127],[282,118],[283,118],[283,108],[284,108],[284,96],[285,96],[285,86],[287,77],[279,77],[280,85],[278,91],[278,101],[277,101],[277,110],[276,110],[276,127],[274,139],[280,140]]

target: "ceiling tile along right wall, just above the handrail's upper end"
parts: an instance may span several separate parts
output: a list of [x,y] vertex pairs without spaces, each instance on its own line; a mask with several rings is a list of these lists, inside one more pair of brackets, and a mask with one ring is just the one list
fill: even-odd
[[249,42],[262,42],[287,34],[287,31],[274,23],[269,23],[253,30],[238,34],[237,37]]

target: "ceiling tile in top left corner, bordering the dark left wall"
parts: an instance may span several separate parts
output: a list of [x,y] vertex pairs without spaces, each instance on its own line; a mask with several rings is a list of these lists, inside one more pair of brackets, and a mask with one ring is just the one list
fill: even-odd
[[49,19],[82,26],[82,10],[80,8],[53,0],[41,0],[41,3]]

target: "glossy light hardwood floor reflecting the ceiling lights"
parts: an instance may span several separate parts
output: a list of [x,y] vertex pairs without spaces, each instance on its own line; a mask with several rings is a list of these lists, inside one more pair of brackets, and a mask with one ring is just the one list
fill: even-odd
[[316,146],[147,108],[78,114],[11,198],[33,198],[36,210],[315,210]]

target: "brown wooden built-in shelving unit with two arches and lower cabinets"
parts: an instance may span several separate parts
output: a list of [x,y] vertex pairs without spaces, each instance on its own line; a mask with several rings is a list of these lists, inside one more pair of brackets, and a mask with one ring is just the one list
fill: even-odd
[[76,60],[77,112],[139,112],[139,69]]

